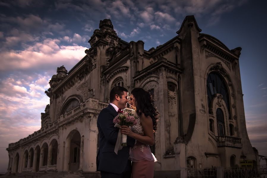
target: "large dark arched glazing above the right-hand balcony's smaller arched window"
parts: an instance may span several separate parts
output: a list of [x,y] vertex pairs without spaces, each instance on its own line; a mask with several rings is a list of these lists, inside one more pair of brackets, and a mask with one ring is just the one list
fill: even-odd
[[227,110],[229,113],[229,119],[231,118],[230,114],[230,102],[229,102],[229,93],[227,89],[227,85],[223,77],[221,77],[216,72],[211,72],[208,74],[207,78],[207,91],[208,91],[208,106],[210,107],[211,100],[214,98],[216,93],[222,95],[222,99],[224,100]]

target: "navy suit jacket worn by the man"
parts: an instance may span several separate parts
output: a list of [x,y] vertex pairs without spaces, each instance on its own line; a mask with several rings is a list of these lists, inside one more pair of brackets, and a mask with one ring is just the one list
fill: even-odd
[[112,105],[102,109],[97,118],[97,128],[100,137],[97,152],[97,171],[121,174],[126,168],[130,147],[135,139],[127,136],[127,147],[122,147],[118,155],[114,152],[119,128],[114,127],[113,119],[118,115]]

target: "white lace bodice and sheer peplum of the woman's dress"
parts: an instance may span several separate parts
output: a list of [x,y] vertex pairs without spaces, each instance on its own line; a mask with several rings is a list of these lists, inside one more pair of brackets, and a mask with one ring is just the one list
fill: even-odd
[[[139,135],[144,135],[143,127],[140,124],[140,118],[137,119],[137,124],[133,125],[131,127],[131,130]],[[153,155],[153,153],[150,150],[150,147],[146,144],[136,142],[136,144],[131,148],[131,152],[129,155],[129,159],[133,162],[139,162],[139,161],[154,161],[156,162],[157,159]]]

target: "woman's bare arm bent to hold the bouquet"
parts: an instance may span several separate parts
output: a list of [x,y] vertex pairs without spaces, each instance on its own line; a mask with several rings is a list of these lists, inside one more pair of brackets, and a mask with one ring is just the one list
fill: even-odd
[[125,125],[121,126],[121,133],[126,134],[143,144],[154,145],[155,138],[154,138],[154,133],[153,133],[153,123],[152,123],[151,117],[150,116],[146,117],[142,113],[140,117],[140,123],[142,124],[143,131],[144,131],[143,136],[132,132],[132,130]]

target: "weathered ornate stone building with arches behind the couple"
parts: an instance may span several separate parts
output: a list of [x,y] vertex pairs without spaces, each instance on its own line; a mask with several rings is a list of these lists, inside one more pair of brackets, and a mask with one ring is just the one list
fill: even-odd
[[9,144],[8,168],[95,172],[97,116],[116,85],[129,92],[143,87],[154,96],[157,175],[181,170],[186,176],[187,168],[234,167],[241,160],[257,164],[245,123],[241,48],[230,50],[200,32],[194,16],[187,16],[177,36],[146,51],[143,41],[125,42],[110,20],[101,20],[84,58],[51,78],[41,129]]

